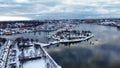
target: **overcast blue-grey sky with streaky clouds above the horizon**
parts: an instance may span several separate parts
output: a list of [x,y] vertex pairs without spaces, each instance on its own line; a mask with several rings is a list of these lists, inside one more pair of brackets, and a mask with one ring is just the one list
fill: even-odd
[[31,19],[119,17],[120,0],[0,0],[1,16]]

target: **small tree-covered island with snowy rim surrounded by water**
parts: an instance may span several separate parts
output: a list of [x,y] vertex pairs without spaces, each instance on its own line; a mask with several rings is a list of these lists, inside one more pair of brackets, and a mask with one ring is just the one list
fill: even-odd
[[63,30],[56,32],[52,38],[60,43],[80,42],[90,39],[94,36],[91,31]]

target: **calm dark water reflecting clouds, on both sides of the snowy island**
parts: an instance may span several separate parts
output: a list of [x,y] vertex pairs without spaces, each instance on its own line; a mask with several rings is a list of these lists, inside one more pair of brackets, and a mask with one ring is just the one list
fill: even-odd
[[[58,44],[46,48],[62,68],[120,68],[120,31],[115,27],[80,24],[74,29],[90,30],[94,37],[79,43]],[[9,39],[29,37],[45,42],[45,33],[2,36]]]

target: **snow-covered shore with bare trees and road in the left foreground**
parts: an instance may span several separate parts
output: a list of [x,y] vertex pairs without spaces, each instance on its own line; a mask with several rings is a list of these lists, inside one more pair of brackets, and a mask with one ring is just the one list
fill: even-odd
[[23,44],[18,45],[17,41],[8,40],[4,50],[4,53],[0,55],[2,56],[0,68],[30,68],[26,63],[34,60],[40,61],[36,64],[42,66],[41,68],[61,68],[45,51],[42,44],[36,42],[29,47],[24,47]]

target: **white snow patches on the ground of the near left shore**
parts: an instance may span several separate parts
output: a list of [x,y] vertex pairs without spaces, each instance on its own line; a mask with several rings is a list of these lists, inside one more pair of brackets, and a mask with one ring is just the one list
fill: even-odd
[[[55,43],[57,43],[57,42],[52,42],[52,44],[55,44]],[[7,56],[9,55],[9,52],[11,53],[11,51],[10,51],[11,49],[9,50],[9,47],[11,44],[12,44],[11,41],[8,41],[6,43],[7,46],[5,46],[5,54],[3,55],[5,62],[6,62]],[[32,56],[33,58],[36,56],[41,56],[41,58],[36,59],[36,60],[28,60],[28,61],[24,62],[22,65],[23,68],[48,68],[48,64],[50,65],[50,68],[61,68],[43,48],[43,46],[48,46],[50,44],[44,44],[44,43],[39,43],[39,44],[42,47],[36,49],[35,46],[33,45],[31,47],[28,47],[27,49],[24,49],[24,56]],[[17,47],[17,44],[15,44],[15,45],[16,45],[15,48],[12,48],[12,50],[16,50],[17,54],[15,57],[19,57],[19,55],[21,53]],[[46,58],[44,56],[42,56],[42,54],[45,54]],[[15,57],[9,56],[9,58],[15,58]],[[2,64],[1,66],[4,67],[5,62],[0,63],[0,65]],[[12,64],[12,63],[16,63],[17,68],[19,67],[19,65],[21,65],[19,62],[19,58],[15,58],[14,62],[13,61],[8,62],[8,64]]]

